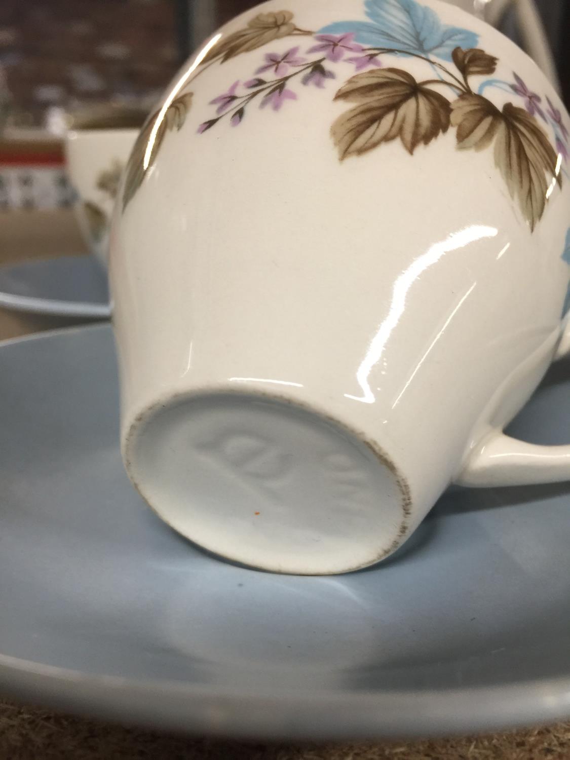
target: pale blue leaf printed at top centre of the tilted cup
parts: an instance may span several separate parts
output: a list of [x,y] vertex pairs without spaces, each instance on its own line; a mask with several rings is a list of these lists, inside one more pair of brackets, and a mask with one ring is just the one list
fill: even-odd
[[369,22],[337,21],[319,33],[352,32],[361,45],[398,49],[404,55],[435,55],[444,61],[451,61],[454,48],[473,48],[479,41],[470,30],[442,24],[432,8],[416,0],[366,0],[365,8]]

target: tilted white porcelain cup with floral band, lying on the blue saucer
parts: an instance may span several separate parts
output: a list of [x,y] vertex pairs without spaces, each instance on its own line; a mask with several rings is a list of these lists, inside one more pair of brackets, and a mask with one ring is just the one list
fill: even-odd
[[524,52],[437,0],[223,27],[112,230],[144,499],[220,556],[325,574],[389,556],[451,483],[570,477],[570,445],[502,432],[570,346],[569,128]]

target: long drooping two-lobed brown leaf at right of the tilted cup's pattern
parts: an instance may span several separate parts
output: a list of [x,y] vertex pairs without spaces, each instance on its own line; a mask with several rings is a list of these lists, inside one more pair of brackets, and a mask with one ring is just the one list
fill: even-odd
[[[534,230],[544,213],[556,177],[556,151],[543,128],[522,108],[506,103],[502,111],[480,95],[464,95],[451,105],[458,147],[482,150],[495,141],[495,163]],[[562,186],[560,174],[557,177]]]

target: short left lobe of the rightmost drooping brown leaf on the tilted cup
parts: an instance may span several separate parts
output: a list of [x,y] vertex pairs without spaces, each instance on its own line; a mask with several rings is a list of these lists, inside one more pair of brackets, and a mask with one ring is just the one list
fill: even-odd
[[451,124],[458,128],[458,148],[489,147],[502,122],[502,113],[482,95],[462,95],[451,103]]

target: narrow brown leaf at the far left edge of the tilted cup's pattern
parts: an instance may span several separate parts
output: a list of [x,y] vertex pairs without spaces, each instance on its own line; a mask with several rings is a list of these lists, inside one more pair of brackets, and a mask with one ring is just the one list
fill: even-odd
[[152,135],[154,125],[158,119],[160,111],[157,111],[152,116],[150,116],[147,123],[141,129],[137,141],[131,150],[131,156],[128,159],[126,167],[125,188],[123,189],[122,195],[123,211],[125,210],[128,201],[131,200],[131,198],[135,195],[135,192],[137,192],[138,188],[140,188],[148,169],[150,169],[150,166],[154,164],[154,161],[156,160],[158,151],[160,149],[160,145],[164,139],[164,135],[166,135],[166,131],[172,131],[175,127],[177,130],[179,130],[182,127],[185,122],[188,110],[190,109],[191,103],[192,93],[179,95],[179,97],[175,98],[173,102],[170,103],[168,109],[166,109],[164,118],[162,122],[160,122],[160,125],[157,129],[157,134],[154,138],[152,149],[150,150],[150,157],[146,169],[144,168],[144,156],[147,152],[148,141],[150,140],[150,135]]

